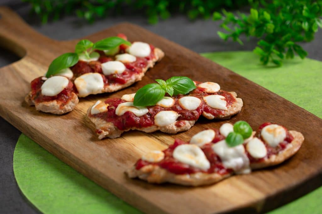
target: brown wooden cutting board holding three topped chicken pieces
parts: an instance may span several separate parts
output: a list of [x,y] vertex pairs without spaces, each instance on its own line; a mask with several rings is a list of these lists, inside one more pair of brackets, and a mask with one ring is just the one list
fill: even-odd
[[[259,85],[143,28],[123,23],[86,37],[97,41],[124,33],[130,41],[161,48],[166,56],[142,81],[115,93],[81,98],[71,112],[56,116],[38,112],[24,102],[30,81],[43,75],[52,60],[72,52],[78,40],[55,41],[30,28],[17,14],[0,7],[0,44],[22,59],[0,69],[0,115],[77,171],[147,213],[264,212],[308,193],[322,183],[322,120]],[[233,60],[233,59],[232,59]],[[257,128],[266,121],[283,124],[305,136],[303,147],[278,167],[238,175],[204,187],[152,185],[128,179],[124,171],[148,150],[160,150],[174,138],[190,139],[205,128],[227,121],[201,118],[189,131],[128,132],[117,139],[98,140],[85,113],[97,99],[133,93],[154,79],[183,75],[214,81],[243,99],[242,112],[229,122],[248,121]]]

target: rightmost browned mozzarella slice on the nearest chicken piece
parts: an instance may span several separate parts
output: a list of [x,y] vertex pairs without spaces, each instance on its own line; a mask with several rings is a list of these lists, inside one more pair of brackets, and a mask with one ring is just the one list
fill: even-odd
[[277,124],[270,124],[261,130],[261,136],[270,146],[276,147],[286,138],[285,129]]

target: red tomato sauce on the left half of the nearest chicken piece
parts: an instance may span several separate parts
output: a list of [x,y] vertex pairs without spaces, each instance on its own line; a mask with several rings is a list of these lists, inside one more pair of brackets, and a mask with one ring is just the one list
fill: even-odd
[[[217,129],[214,129],[214,130],[216,133],[219,133],[219,131]],[[192,173],[197,173],[197,172],[218,173],[220,175],[224,175],[224,174],[232,172],[231,169],[226,169],[223,166],[221,159],[219,158],[218,155],[216,155],[216,153],[211,148],[213,143],[214,142],[207,143],[203,147],[201,147],[201,150],[203,150],[206,158],[210,162],[210,168],[207,171],[198,169],[196,167],[192,167],[188,164],[179,162],[175,158],[173,158],[173,151],[175,150],[175,148],[179,145],[187,144],[187,142],[182,141],[180,139],[175,139],[174,144],[170,145],[169,148],[167,148],[166,150],[163,150],[163,152],[165,154],[165,158],[163,160],[161,160],[160,162],[150,163],[145,160],[139,159],[135,166],[136,166],[136,169],[139,170],[140,168],[150,165],[150,164],[157,165],[157,166],[164,168],[167,171],[177,174],[177,175],[192,174]]]

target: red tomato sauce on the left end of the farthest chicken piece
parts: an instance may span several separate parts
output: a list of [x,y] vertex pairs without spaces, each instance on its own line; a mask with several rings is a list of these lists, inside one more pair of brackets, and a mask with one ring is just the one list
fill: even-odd
[[31,92],[32,92],[31,98],[34,100],[34,102],[40,103],[40,102],[57,100],[61,104],[60,107],[63,107],[64,105],[66,105],[66,103],[71,99],[71,93],[74,92],[73,83],[69,81],[66,88],[64,88],[62,92],[60,92],[56,96],[45,96],[45,95],[42,95],[41,93],[41,86],[45,82],[42,78],[43,77],[38,77],[33,81],[31,81]]

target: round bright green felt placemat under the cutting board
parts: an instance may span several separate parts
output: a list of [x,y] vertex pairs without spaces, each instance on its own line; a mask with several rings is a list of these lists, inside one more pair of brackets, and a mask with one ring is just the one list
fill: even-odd
[[[203,56],[322,117],[322,62],[296,58],[283,67],[263,67],[252,52]],[[14,150],[14,175],[26,198],[46,214],[140,213],[22,134]],[[322,187],[271,213],[321,213]]]

